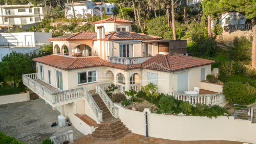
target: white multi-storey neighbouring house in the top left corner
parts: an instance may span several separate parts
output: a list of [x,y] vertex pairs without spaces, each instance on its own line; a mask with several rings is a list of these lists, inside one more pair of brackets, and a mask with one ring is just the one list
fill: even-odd
[[[48,13],[50,14],[50,6]],[[46,15],[45,7],[33,7],[33,5],[1,5],[0,6],[0,25],[28,25],[40,22]]]

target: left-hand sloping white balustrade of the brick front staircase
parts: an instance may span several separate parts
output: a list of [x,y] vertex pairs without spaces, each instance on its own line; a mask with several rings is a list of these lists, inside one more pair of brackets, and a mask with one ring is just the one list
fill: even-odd
[[86,87],[83,88],[84,89],[84,94],[85,94],[85,99],[87,100],[87,102],[89,103],[92,111],[94,112],[94,114],[97,116],[99,122],[102,122],[102,112],[99,108],[99,106],[96,104],[94,98],[92,98],[90,92],[88,91],[88,89]]

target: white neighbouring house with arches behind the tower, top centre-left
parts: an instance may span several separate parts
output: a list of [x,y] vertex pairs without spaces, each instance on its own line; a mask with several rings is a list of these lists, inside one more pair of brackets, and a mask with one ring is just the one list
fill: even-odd
[[[74,2],[74,11],[77,18],[87,18],[92,16],[101,16],[106,13],[107,16],[113,16],[111,8],[114,4],[94,2],[94,1],[81,1]],[[105,11],[104,11],[105,7]],[[65,18],[73,18],[73,8],[72,3],[65,4]]]

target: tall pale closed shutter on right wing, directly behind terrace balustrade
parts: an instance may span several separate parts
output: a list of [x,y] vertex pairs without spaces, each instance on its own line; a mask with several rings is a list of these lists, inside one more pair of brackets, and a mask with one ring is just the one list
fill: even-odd
[[184,93],[189,90],[189,72],[178,74],[178,92]]

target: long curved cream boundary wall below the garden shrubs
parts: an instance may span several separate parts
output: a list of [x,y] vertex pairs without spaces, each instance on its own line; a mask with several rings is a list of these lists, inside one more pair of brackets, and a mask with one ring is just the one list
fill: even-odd
[[[132,133],[146,134],[144,112],[119,107],[119,117]],[[233,140],[256,143],[256,125],[251,121],[229,116],[207,118],[200,116],[174,116],[148,111],[149,137],[172,140]]]

